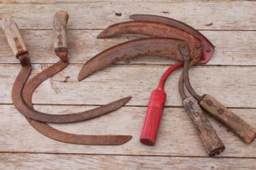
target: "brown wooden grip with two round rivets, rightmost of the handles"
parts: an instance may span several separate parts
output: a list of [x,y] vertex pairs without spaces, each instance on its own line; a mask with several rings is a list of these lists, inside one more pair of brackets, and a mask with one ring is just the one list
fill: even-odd
[[230,128],[230,130],[238,135],[238,137],[240,137],[245,143],[249,144],[255,139],[255,129],[245,123],[245,120],[239,118],[238,115],[235,115],[228,110],[228,108],[223,106],[212,96],[208,94],[204,95],[199,104],[202,108],[208,111],[208,113]]

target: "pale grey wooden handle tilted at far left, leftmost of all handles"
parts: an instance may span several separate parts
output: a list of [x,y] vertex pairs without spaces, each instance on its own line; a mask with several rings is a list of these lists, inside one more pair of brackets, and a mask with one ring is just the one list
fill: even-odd
[[14,20],[11,18],[5,18],[2,23],[2,28],[9,46],[16,57],[27,52],[27,48],[21,38],[21,33],[19,33],[18,26]]

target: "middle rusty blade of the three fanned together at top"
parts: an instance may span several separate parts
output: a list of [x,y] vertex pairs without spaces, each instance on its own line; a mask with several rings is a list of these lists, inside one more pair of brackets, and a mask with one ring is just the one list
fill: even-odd
[[[115,35],[124,34],[137,34],[154,38],[176,38],[179,40],[184,40],[188,42],[191,55],[193,55],[196,51],[196,45],[201,45],[202,43],[191,33],[187,33],[184,30],[178,29],[174,26],[169,26],[165,23],[152,21],[128,21],[117,23],[103,30],[97,38],[110,38]],[[203,55],[201,57],[203,57]]]

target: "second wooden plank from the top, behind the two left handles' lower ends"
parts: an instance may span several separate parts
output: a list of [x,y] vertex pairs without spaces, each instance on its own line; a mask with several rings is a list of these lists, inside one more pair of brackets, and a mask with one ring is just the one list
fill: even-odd
[[[105,40],[97,39],[102,30],[68,30],[68,59],[70,63],[84,64],[102,50],[120,42],[139,38],[122,36]],[[256,31],[201,31],[215,45],[215,53],[210,65],[255,65]],[[33,63],[55,63],[59,59],[54,54],[53,30],[21,30]],[[40,43],[38,43],[40,42]],[[18,63],[2,30],[0,30],[0,63]],[[167,57],[142,57],[119,62],[122,64],[173,64]]]

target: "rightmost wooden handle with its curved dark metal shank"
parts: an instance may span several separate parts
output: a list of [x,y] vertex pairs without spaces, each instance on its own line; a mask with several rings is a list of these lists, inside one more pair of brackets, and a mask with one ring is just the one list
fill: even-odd
[[[252,126],[248,125],[245,120],[242,120],[238,115],[235,115],[233,112],[228,110],[223,104],[218,102],[215,98],[210,96],[209,94],[205,94],[203,96],[200,96],[196,94],[196,91],[193,90],[188,76],[188,70],[189,70],[189,50],[186,45],[181,46],[181,53],[183,54],[183,79],[184,83],[186,85],[186,88],[188,89],[188,92],[196,98],[199,105],[210,115],[213,115],[214,118],[222,122],[224,125],[226,125],[230,130],[232,130],[240,139],[245,143],[251,143],[255,137],[256,132],[255,129],[252,128]],[[182,78],[181,78],[182,79]]]

